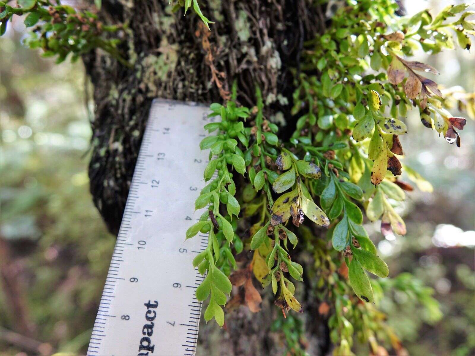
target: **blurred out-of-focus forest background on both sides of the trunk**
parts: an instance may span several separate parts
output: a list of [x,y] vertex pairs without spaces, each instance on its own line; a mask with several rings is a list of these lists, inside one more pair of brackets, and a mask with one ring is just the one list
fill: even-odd
[[[410,14],[445,3],[405,5]],[[83,354],[115,242],[89,194],[91,87],[80,62],[55,65],[24,36],[17,18],[0,38],[0,355]],[[474,48],[433,56],[437,82],[475,92]],[[404,237],[381,240],[365,225],[392,277],[379,308],[411,355],[475,355],[474,121],[461,148],[406,122],[403,163],[433,192],[421,182],[408,194]],[[408,273],[417,280],[398,291]]]

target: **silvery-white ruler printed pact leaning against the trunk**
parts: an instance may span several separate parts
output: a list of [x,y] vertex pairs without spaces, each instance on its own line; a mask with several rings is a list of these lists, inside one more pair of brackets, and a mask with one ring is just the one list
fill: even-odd
[[208,234],[185,241],[185,232],[201,214],[207,115],[207,106],[152,103],[88,356],[195,355],[203,276],[192,260]]

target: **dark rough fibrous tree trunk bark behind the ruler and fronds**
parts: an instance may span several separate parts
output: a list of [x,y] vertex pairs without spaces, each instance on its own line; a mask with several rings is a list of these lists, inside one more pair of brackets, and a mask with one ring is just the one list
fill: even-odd
[[[236,79],[238,101],[252,106],[257,84],[268,104],[266,117],[285,117],[284,134],[293,132],[291,71],[298,71],[304,41],[325,22],[322,9],[312,3],[200,0],[216,22],[208,31],[191,10],[186,17],[182,10],[172,14],[168,0],[103,0],[104,23],[129,24],[121,49],[134,64],[128,69],[99,50],[84,56],[96,105],[90,189],[112,233],[120,226],[152,98],[223,102]],[[310,294],[299,298],[306,309],[308,351],[322,355],[329,348],[328,330]],[[202,328],[200,354],[282,354],[279,336],[269,332],[269,320],[280,309],[267,297],[261,313],[241,307],[229,315],[226,331],[212,332],[215,323]]]

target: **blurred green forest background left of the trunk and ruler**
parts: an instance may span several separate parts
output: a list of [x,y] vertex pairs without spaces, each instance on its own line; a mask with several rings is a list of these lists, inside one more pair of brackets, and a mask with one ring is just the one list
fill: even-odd
[[[0,68],[0,238],[7,255],[2,277],[20,295],[13,301],[18,290],[2,279],[0,321],[56,351],[79,352],[89,341],[115,241],[88,191],[85,76],[80,64],[40,59],[11,34],[0,39],[8,64]],[[22,330],[17,308],[31,328]],[[2,353],[25,351],[1,345]]]

